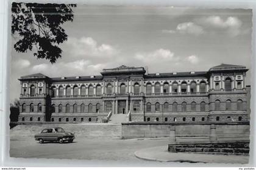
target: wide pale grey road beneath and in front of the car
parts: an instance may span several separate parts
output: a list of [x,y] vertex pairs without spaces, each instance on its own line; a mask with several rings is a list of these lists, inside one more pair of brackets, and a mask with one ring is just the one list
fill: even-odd
[[39,144],[32,137],[10,137],[10,157],[23,158],[68,158],[85,160],[137,161],[134,152],[154,146],[168,146],[168,139],[119,140],[112,138],[79,137],[74,143]]

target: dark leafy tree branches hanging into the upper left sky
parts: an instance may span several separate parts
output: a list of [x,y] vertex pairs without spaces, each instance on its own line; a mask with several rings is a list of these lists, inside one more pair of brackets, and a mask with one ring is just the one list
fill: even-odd
[[18,34],[14,44],[18,52],[33,51],[37,58],[55,63],[61,57],[59,44],[68,40],[61,26],[73,21],[76,4],[12,3],[12,34]]

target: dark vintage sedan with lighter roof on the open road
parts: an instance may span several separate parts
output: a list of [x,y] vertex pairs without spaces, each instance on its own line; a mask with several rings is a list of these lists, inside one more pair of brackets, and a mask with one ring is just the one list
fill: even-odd
[[65,132],[62,127],[46,128],[43,129],[41,133],[35,135],[35,140],[39,141],[39,143],[44,143],[44,141],[58,141],[59,143],[68,141],[72,143],[74,133]]

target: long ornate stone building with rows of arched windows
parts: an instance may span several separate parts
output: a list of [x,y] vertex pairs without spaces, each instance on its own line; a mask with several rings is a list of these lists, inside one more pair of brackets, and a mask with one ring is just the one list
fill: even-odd
[[116,114],[130,121],[248,121],[247,70],[221,64],[148,74],[143,67],[120,66],[101,76],[23,76],[19,121],[99,122]]

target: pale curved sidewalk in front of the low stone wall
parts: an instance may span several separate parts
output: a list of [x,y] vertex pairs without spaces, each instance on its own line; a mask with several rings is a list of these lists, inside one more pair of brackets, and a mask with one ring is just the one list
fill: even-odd
[[249,156],[243,155],[213,155],[173,153],[167,151],[167,146],[149,147],[136,151],[135,157],[150,161],[179,161],[191,163],[236,163],[246,164]]

